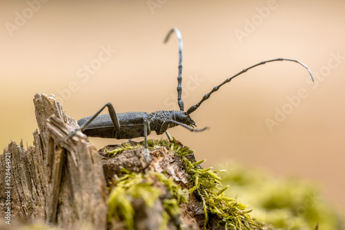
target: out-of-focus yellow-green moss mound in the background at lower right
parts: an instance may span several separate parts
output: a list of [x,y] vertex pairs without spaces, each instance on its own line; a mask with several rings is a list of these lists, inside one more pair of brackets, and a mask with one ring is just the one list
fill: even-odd
[[235,164],[222,165],[228,169],[221,182],[231,186],[228,196],[237,196],[253,208],[259,222],[277,229],[304,230],[342,229],[339,217],[320,196],[311,182],[297,178],[277,179],[268,174]]

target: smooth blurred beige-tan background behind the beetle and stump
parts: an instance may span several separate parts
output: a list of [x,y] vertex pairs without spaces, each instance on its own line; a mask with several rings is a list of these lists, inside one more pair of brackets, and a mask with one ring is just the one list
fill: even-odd
[[[32,99],[55,94],[72,118],[105,103],[116,112],[178,110],[181,31],[185,108],[245,67],[170,129],[204,166],[235,160],[316,182],[345,212],[344,1],[1,1],[0,144],[32,145]],[[166,138],[151,134],[150,138]],[[141,140],[138,138],[137,140]],[[97,148],[124,140],[90,138]]]

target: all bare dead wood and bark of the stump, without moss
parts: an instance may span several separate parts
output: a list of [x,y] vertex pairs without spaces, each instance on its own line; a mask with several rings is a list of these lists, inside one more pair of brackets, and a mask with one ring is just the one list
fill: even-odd
[[[107,223],[107,185],[110,186],[115,175],[124,176],[121,167],[136,174],[156,171],[172,178],[182,189],[193,187],[181,158],[168,147],[150,151],[150,164],[144,160],[142,147],[113,156],[106,149],[112,150],[118,145],[97,151],[81,132],[67,141],[70,131],[78,127],[77,121],[63,112],[54,96],[36,94],[34,107],[39,127],[39,132],[33,133],[34,145],[24,149],[22,144],[11,141],[0,155],[2,180],[6,170],[5,154],[11,156],[12,218],[46,222],[61,229],[126,229],[121,221]],[[193,154],[187,157],[195,162]],[[0,184],[0,216],[5,216],[3,201],[7,187]],[[142,199],[132,200],[135,229],[160,229],[164,221],[161,218],[163,206],[159,200],[152,207],[145,205]],[[217,224],[219,219],[214,220],[215,229],[222,229]],[[190,194],[188,202],[181,205],[179,216],[171,217],[166,229],[181,229],[181,226],[184,229],[204,226],[203,205],[195,194]]]

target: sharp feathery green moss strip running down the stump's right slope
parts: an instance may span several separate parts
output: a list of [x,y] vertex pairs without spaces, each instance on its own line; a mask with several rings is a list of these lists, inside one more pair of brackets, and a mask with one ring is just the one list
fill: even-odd
[[189,147],[181,147],[174,140],[170,143],[170,150],[174,150],[181,157],[186,172],[192,176],[193,187],[189,189],[190,194],[196,192],[201,198],[204,206],[204,226],[208,227],[209,214],[217,216],[225,225],[226,229],[259,229],[260,227],[248,215],[251,210],[233,198],[224,195],[228,187],[222,188],[221,178],[217,174],[221,171],[213,171],[212,167],[201,169],[199,165],[204,160],[191,163],[186,156],[194,151]]

